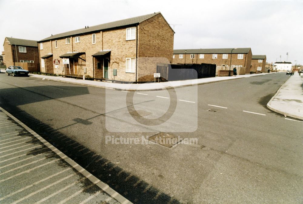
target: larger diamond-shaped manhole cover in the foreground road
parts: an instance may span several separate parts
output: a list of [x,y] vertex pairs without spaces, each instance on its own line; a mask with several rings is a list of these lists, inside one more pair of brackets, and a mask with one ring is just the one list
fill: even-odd
[[149,141],[153,141],[168,148],[171,148],[175,144],[178,144],[182,141],[182,139],[183,138],[180,138],[180,136],[178,137],[166,132],[160,132],[148,138]]

